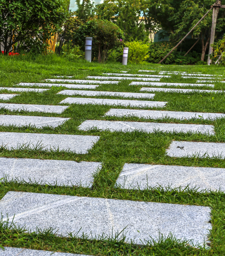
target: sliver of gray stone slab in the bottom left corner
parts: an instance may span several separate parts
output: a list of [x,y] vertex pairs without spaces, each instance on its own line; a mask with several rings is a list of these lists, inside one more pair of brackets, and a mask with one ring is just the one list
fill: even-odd
[[41,251],[41,250],[31,250],[24,248],[15,247],[4,247],[5,251],[0,248],[0,256],[91,256],[85,254],[73,254],[66,252],[54,252],[54,251]]

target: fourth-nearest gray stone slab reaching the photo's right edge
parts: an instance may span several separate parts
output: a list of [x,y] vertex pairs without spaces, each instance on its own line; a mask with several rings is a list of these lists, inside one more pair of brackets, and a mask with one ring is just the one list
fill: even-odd
[[141,92],[172,92],[172,93],[222,93],[223,91],[217,90],[199,90],[199,89],[181,89],[181,88],[153,88],[153,87],[142,87]]

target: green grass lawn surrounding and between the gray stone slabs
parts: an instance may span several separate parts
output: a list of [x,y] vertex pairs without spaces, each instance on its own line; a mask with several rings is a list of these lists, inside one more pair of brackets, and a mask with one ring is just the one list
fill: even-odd
[[[19,82],[42,82],[43,79],[54,78],[55,75],[72,75],[74,79],[85,79],[88,75],[102,75],[102,73],[111,72],[119,73],[128,71],[130,74],[136,74],[140,69],[149,70],[167,70],[167,71],[187,71],[202,72],[205,74],[225,75],[224,68],[206,67],[206,66],[159,66],[153,64],[128,65],[122,67],[119,63],[97,64],[87,63],[85,61],[68,61],[65,58],[55,56],[39,56],[36,58],[19,56],[0,57],[0,86],[16,86]],[[141,72],[141,74],[145,74]],[[146,74],[149,74],[146,72]],[[158,74],[158,72],[152,73]],[[183,79],[182,75],[171,75],[171,78],[163,78],[162,82],[183,82],[195,83],[198,79]],[[46,81],[47,82],[47,81]],[[129,86],[131,81],[123,80],[118,85],[100,85],[96,91],[116,91],[116,92],[140,92],[141,87],[146,86]],[[21,87],[21,86],[16,86]],[[33,86],[32,86],[33,87]],[[156,86],[152,86],[156,87]],[[169,86],[176,88],[174,86]],[[34,86],[33,88],[46,88]],[[50,87],[49,87],[50,88]],[[185,88],[212,89],[209,86]],[[65,87],[51,87],[50,90],[43,93],[23,92],[18,96],[9,99],[8,103],[17,104],[59,104],[60,101],[67,98],[67,95],[56,94],[57,92],[67,89]],[[215,90],[225,90],[225,84],[215,82]],[[78,89],[76,89],[78,90]],[[85,89],[88,90],[88,89]],[[93,89],[90,89],[93,90]],[[8,91],[2,90],[3,93]],[[15,93],[15,92],[14,92]],[[85,97],[85,96],[69,96]],[[86,97],[87,98],[87,97]],[[129,99],[122,97],[91,97],[91,98],[109,98],[109,99]],[[140,100],[140,99],[133,99]],[[152,108],[157,110],[170,111],[190,111],[190,112],[212,112],[224,113],[225,101],[224,93],[164,93],[156,92],[154,99],[142,99],[147,101],[167,101],[164,108]],[[57,116],[71,118],[63,125],[55,129],[45,127],[36,129],[30,126],[14,127],[0,126],[0,131],[7,132],[27,132],[27,133],[56,133],[56,134],[81,134],[81,135],[99,135],[100,140],[94,145],[88,154],[78,155],[68,152],[59,151],[38,151],[31,149],[8,151],[0,149],[1,157],[16,158],[36,158],[36,159],[59,159],[72,161],[96,161],[102,162],[102,170],[94,174],[95,180],[93,189],[78,187],[58,187],[38,184],[18,184],[16,182],[6,182],[2,180],[0,184],[1,198],[8,191],[24,191],[38,193],[53,193],[59,195],[89,196],[102,197],[111,199],[152,201],[161,203],[177,203],[209,206],[212,209],[212,231],[209,240],[210,247],[207,249],[197,249],[185,245],[185,243],[168,238],[161,240],[159,243],[147,246],[135,246],[125,244],[122,241],[117,242],[113,239],[102,241],[91,241],[88,239],[79,239],[77,237],[60,238],[52,234],[51,230],[46,230],[41,234],[27,234],[23,229],[11,230],[1,225],[0,244],[3,246],[26,247],[39,250],[63,251],[71,253],[82,253],[90,255],[223,255],[225,254],[225,195],[223,192],[196,192],[194,189],[186,190],[163,190],[148,189],[144,191],[128,191],[121,188],[114,188],[115,181],[122,170],[124,163],[148,163],[148,164],[166,164],[166,165],[183,165],[183,166],[201,166],[201,167],[218,167],[225,168],[224,159],[198,159],[198,158],[172,158],[165,155],[165,150],[172,140],[185,141],[209,141],[225,142],[225,120],[176,120],[176,119],[148,119],[151,122],[168,122],[168,123],[196,123],[212,124],[215,127],[215,135],[207,136],[192,133],[111,133],[109,131],[101,132],[91,130],[84,132],[77,127],[87,119],[94,120],[122,120],[122,121],[146,121],[137,117],[103,117],[110,108],[129,108],[122,106],[107,105],[78,105],[74,104],[66,109],[62,114],[27,112],[27,111],[8,111],[0,109],[0,114],[12,115],[37,115],[37,116]],[[137,108],[131,108],[137,109]],[[147,108],[141,108],[147,109]],[[54,233],[54,231],[53,231]]]

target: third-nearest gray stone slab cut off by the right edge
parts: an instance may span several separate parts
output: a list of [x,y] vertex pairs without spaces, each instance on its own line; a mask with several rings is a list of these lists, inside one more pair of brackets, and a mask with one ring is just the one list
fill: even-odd
[[146,119],[158,118],[176,118],[179,120],[186,119],[210,119],[225,118],[222,113],[202,113],[202,112],[182,112],[182,111],[161,111],[161,110],[139,110],[139,109],[122,109],[111,108],[105,116],[137,116]]

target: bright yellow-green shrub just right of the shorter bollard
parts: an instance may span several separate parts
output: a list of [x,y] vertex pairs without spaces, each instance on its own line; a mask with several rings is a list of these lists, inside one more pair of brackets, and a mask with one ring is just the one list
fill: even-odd
[[148,55],[148,44],[144,44],[141,40],[126,42],[125,47],[129,47],[128,62],[139,64],[146,60]]

